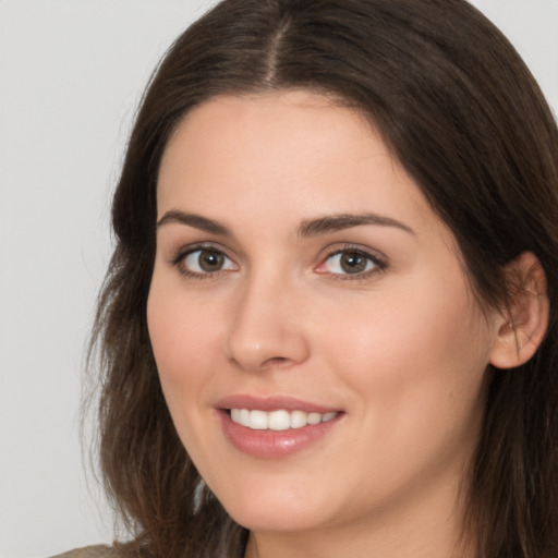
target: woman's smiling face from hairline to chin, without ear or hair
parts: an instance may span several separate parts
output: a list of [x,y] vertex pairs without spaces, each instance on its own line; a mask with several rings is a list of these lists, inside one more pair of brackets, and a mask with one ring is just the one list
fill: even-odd
[[153,349],[232,518],[255,532],[448,519],[495,319],[360,113],[304,92],[215,98],[171,137],[157,203]]

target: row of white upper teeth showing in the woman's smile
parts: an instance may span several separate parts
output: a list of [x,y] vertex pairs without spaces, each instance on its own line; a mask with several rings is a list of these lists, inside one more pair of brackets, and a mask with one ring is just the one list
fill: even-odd
[[289,428],[302,428],[306,425],[326,423],[335,418],[339,413],[305,413],[304,411],[266,411],[231,409],[231,420],[253,430],[287,430]]

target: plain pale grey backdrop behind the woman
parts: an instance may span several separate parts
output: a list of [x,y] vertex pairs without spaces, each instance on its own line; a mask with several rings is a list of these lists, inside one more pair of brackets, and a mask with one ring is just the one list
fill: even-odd
[[[110,193],[143,86],[211,0],[0,0],[0,557],[110,543],[78,441]],[[558,111],[558,0],[477,0]]]

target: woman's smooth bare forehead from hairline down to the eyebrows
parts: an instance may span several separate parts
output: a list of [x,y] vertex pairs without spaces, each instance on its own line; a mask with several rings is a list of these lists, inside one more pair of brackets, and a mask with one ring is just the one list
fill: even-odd
[[396,194],[396,184],[409,202],[424,202],[361,112],[311,92],[276,92],[216,97],[192,110],[165,150],[158,203],[198,194],[215,204],[234,194],[284,203],[306,193],[359,204],[388,186]]

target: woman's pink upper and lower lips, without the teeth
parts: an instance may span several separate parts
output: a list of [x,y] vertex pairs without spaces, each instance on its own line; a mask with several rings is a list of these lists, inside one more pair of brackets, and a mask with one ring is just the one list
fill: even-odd
[[[232,446],[243,453],[262,459],[281,459],[307,448],[339,424],[344,415],[338,409],[284,397],[255,398],[246,395],[231,396],[220,400],[216,408],[225,436]],[[279,432],[253,430],[232,422],[228,413],[229,409],[257,409],[267,412],[284,409],[287,411],[301,410],[306,413],[322,414],[339,411],[339,415],[331,421],[306,425],[302,428],[290,428]]]

